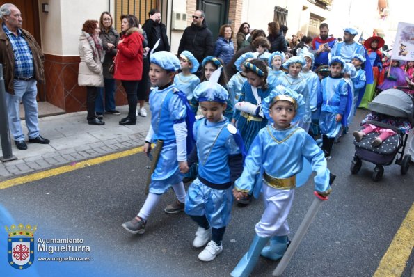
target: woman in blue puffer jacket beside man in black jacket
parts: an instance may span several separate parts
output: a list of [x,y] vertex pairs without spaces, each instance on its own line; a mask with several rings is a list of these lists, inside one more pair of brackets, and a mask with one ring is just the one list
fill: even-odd
[[225,65],[227,65],[234,56],[232,36],[232,26],[229,24],[224,24],[220,27],[216,45],[214,45],[214,56],[221,58]]

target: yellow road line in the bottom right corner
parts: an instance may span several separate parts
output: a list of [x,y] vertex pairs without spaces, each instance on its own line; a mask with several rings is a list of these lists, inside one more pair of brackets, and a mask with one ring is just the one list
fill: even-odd
[[414,204],[379,262],[373,277],[401,276],[414,247]]

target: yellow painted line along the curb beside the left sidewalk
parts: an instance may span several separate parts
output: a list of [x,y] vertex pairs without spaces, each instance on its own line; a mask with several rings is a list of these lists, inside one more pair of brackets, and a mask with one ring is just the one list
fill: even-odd
[[47,177],[51,177],[51,176],[55,176],[55,175],[59,175],[62,173],[66,173],[66,172],[70,172],[70,171],[75,171],[79,168],[85,168],[88,166],[93,166],[95,164],[101,164],[104,163],[105,161],[111,161],[113,159],[119,159],[122,157],[127,157],[130,155],[134,155],[138,152],[142,152],[142,147],[138,147],[138,148],[133,148],[130,150],[125,150],[122,152],[118,152],[118,153],[114,153],[114,154],[110,154],[110,155],[105,155],[102,157],[97,157],[97,158],[93,158],[93,159],[88,159],[86,161],[79,161],[79,162],[74,162],[73,164],[70,164],[68,166],[61,166],[58,168],[52,168],[52,169],[48,169],[47,171],[41,171],[38,173],[33,173],[30,175],[26,175],[26,176],[22,176],[22,177],[17,177],[14,179],[10,179],[10,180],[6,180],[3,182],[0,182],[0,189],[7,189],[8,187],[13,187],[13,186],[17,186],[19,184],[25,184],[27,182],[33,182],[36,180],[40,180],[43,178],[47,178]]

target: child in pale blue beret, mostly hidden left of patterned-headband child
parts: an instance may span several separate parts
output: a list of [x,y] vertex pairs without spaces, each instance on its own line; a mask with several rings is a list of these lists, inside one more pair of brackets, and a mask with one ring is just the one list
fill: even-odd
[[230,78],[230,81],[228,81],[230,102],[232,102],[233,106],[239,102],[241,88],[243,87],[244,82],[247,81],[244,63],[246,63],[246,61],[253,60],[253,58],[255,58],[255,54],[247,52],[239,56],[239,58],[237,58],[237,60],[234,62],[234,65],[236,65],[236,68],[239,70],[239,72],[234,74],[233,77]]

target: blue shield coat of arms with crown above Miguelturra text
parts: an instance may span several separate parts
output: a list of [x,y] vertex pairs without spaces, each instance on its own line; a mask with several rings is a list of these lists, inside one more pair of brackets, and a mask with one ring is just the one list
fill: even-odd
[[6,226],[8,232],[8,263],[15,269],[26,269],[35,259],[34,232],[37,226],[19,224]]

